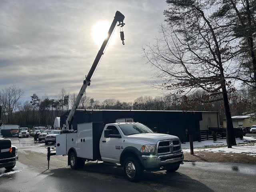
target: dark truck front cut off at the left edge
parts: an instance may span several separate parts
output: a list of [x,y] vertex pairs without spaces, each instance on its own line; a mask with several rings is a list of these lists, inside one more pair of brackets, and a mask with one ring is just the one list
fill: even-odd
[[18,148],[12,146],[10,139],[0,138],[0,168],[12,170],[18,161]]

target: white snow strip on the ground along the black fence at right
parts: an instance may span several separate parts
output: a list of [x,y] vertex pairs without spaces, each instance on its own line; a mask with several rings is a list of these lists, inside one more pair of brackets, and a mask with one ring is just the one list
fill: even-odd
[[[221,146],[226,145],[226,139],[218,139],[216,142],[213,140],[204,140],[201,142],[193,142],[194,152],[224,152],[224,153],[244,153],[256,157],[256,144],[246,144],[248,141],[256,141],[256,138],[244,137],[243,140],[236,138],[236,143],[245,143],[242,146],[232,146],[232,148],[219,147],[219,148],[203,148],[205,146]],[[181,144],[183,152],[190,152],[190,143]],[[198,148],[198,149],[196,149]],[[200,149],[203,148],[203,149]]]

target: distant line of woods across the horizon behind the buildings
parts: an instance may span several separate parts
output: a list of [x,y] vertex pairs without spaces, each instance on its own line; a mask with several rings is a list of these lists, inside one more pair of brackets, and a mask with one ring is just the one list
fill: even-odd
[[[174,96],[140,96],[133,102],[121,102],[118,99],[109,98],[100,102],[84,94],[78,109],[216,111],[220,112],[220,118],[224,118],[222,101],[190,102],[194,98],[201,98],[204,94],[204,91],[196,91],[186,102],[178,102]],[[49,98],[47,95],[39,97],[34,93],[30,96],[30,100],[22,102],[24,91],[13,85],[0,91],[1,120],[4,124],[22,126],[53,125],[56,117],[61,116],[73,106],[76,96],[76,93],[70,94],[62,88],[55,98]],[[232,115],[242,115],[248,112],[252,99],[247,89],[236,91],[229,97]]]

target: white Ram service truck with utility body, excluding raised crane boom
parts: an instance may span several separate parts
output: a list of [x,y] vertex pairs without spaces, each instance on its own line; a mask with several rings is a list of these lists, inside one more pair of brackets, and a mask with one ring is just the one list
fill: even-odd
[[85,161],[101,160],[124,169],[131,182],[140,180],[143,170],[174,172],[184,155],[176,136],[154,133],[138,122],[78,124],[77,131],[56,136],[56,155],[67,155],[72,169]]

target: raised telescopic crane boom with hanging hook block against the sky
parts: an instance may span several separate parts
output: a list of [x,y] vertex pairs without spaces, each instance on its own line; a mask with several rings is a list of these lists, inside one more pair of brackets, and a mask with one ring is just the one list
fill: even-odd
[[[112,34],[112,32],[114,31],[115,27],[116,27],[116,24],[118,23],[117,26],[120,26],[120,27],[123,27],[124,26],[124,15],[122,13],[120,13],[119,11],[116,11],[116,14],[114,16],[114,20],[108,30],[108,36],[106,37],[106,39],[104,40],[104,42],[102,43],[102,46],[98,52],[98,54],[96,55],[96,58],[92,64],[92,67],[90,69],[90,71],[88,72],[84,82],[83,82],[83,85],[76,97],[76,100],[74,102],[74,105],[72,106],[71,110],[70,110],[70,113],[68,114],[68,117],[66,118],[66,124],[63,125],[62,127],[62,130],[66,130],[66,131],[70,131],[72,132],[73,129],[72,129],[72,122],[73,122],[73,119],[74,119],[74,114],[76,112],[76,108],[78,107],[79,103],[80,103],[80,100],[87,88],[87,86],[90,86],[90,82],[91,82],[91,78],[92,78],[92,75],[94,74],[94,71],[100,61],[100,58],[102,57],[102,55],[104,54],[104,50],[106,48],[106,45],[110,39],[110,36]],[[122,40],[122,43],[124,45],[124,32],[120,32],[120,36],[121,36],[121,40]]]

